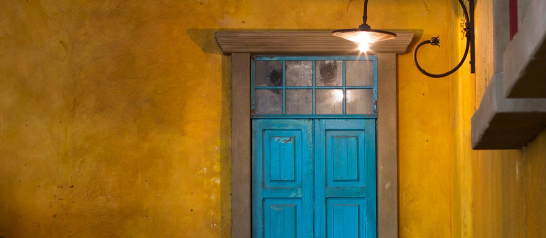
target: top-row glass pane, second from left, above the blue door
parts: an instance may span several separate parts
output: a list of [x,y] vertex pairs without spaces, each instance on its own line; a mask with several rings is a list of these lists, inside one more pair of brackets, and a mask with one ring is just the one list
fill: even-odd
[[312,61],[286,61],[286,86],[312,86]]

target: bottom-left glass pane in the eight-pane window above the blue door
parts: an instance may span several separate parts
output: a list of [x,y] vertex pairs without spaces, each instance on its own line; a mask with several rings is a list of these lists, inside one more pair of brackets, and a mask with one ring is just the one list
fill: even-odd
[[282,114],[282,90],[256,90],[254,114]]

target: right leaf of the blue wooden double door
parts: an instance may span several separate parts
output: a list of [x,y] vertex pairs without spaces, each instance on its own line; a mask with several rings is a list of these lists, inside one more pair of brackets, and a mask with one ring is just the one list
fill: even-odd
[[317,120],[314,146],[316,237],[376,237],[375,120]]

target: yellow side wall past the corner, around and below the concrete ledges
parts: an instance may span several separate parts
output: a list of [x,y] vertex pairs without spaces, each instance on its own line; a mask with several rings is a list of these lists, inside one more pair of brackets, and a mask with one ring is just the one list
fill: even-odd
[[[546,131],[523,150],[473,151],[470,145],[471,117],[494,73],[492,14],[491,2],[476,1],[476,74],[466,67],[451,79],[453,167],[459,171],[453,237],[544,237]],[[453,42],[462,55],[464,41]]]

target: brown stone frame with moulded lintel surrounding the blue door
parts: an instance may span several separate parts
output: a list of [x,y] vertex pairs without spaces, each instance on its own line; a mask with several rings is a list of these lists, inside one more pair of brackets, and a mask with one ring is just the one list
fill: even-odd
[[[232,56],[232,237],[252,237],[251,200],[251,109],[250,80],[251,54],[269,55],[294,54],[301,46],[287,45],[287,42],[300,44],[307,40],[306,47],[318,49],[316,52],[301,50],[300,55],[356,55],[354,47],[345,41],[337,41],[329,32],[246,32],[242,40],[240,32],[217,32],[216,40],[222,51]],[[250,34],[250,37],[249,37]],[[287,36],[288,34],[288,36]],[[403,37],[385,41],[377,49],[377,236],[398,236],[398,129],[397,129],[397,60],[396,53],[406,51],[413,32],[397,32]],[[309,41],[309,36],[314,39]],[[281,37],[282,36],[282,37]],[[289,39],[287,39],[289,38]],[[317,38],[323,40],[317,40]],[[228,43],[223,40],[231,39]],[[249,45],[257,41],[261,48],[252,49]],[[259,39],[262,39],[260,41]],[[275,41],[271,39],[282,39]],[[265,42],[265,43],[264,43]],[[256,43],[256,42],[254,42]],[[230,50],[227,46],[243,47]],[[395,47],[396,46],[396,47]],[[244,48],[247,47],[247,48]],[[293,49],[292,49],[292,48]],[[345,48],[343,48],[345,47]],[[292,49],[289,50],[288,48]],[[403,49],[403,50],[400,50]],[[373,47],[372,47],[373,50]],[[395,148],[393,150],[393,148]]]

